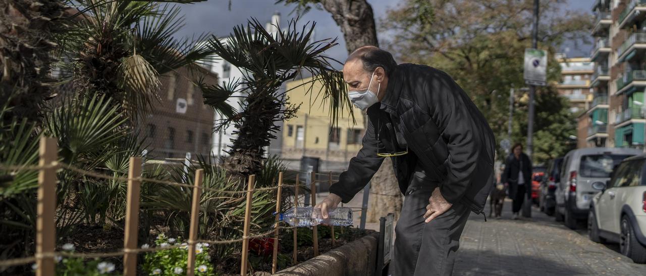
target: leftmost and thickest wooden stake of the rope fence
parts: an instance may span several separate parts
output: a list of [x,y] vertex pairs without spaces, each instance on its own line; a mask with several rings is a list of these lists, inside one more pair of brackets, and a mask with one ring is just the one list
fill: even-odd
[[[57,140],[41,137],[39,166],[52,165],[58,158]],[[38,172],[38,203],[36,215],[37,276],[54,275],[56,247],[56,168],[41,168]]]

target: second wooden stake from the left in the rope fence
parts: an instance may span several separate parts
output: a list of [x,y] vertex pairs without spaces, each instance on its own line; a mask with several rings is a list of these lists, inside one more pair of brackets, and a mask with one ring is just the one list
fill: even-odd
[[137,249],[139,228],[139,194],[141,181],[141,157],[130,157],[128,170],[128,192],[125,210],[125,231],[123,238],[123,275],[137,275],[137,253],[130,250]]

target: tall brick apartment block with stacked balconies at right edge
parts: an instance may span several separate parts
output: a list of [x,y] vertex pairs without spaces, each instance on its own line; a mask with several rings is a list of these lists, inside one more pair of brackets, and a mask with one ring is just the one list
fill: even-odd
[[643,148],[646,0],[597,0],[592,11],[594,99],[579,117],[588,128],[579,146]]

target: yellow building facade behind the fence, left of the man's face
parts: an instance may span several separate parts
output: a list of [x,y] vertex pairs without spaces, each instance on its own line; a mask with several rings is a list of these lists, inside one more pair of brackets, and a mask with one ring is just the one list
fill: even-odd
[[[320,158],[319,170],[342,170],[361,148],[364,117],[353,107],[354,122],[348,109],[343,110],[337,126],[329,116],[329,105],[317,98],[322,85],[315,83],[307,94],[311,77],[286,84],[289,103],[301,104],[297,116],[283,122],[282,159],[298,161],[303,156]],[[300,87],[298,87],[300,85]]]

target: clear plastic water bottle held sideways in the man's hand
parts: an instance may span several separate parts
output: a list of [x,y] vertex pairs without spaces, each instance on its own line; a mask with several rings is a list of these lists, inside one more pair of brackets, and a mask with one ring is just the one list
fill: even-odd
[[352,224],[352,210],[347,207],[328,209],[328,219],[323,219],[320,208],[312,206],[290,208],[280,213],[280,221],[285,221],[291,226],[298,227],[309,227],[318,224],[349,226]]

